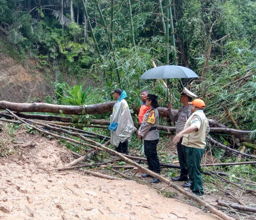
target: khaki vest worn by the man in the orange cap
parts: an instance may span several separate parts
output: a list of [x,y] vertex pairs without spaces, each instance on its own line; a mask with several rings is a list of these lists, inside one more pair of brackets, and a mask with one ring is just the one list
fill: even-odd
[[194,115],[198,115],[201,119],[201,126],[198,131],[193,131],[188,134],[183,134],[182,144],[187,147],[203,149],[206,146],[205,132],[208,127],[208,120],[202,111],[194,112],[187,120],[184,130],[191,125],[191,120]]

